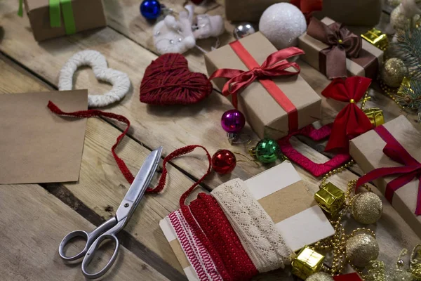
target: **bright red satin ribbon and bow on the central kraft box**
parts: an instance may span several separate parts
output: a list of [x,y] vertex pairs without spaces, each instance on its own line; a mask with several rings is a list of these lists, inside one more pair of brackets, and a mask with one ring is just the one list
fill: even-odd
[[[276,51],[269,55],[262,65],[248,53],[246,48],[241,44],[240,41],[234,41],[229,44],[234,50],[236,55],[243,61],[249,71],[234,70],[229,68],[223,68],[216,70],[210,75],[209,79],[215,79],[219,77],[227,78],[229,81],[225,83],[222,89],[222,95],[232,95],[232,105],[235,108],[238,107],[237,95],[241,91],[249,86],[255,79],[258,79],[260,83],[265,87],[269,94],[276,100],[279,105],[288,114],[289,131],[297,131],[298,129],[298,112],[297,108],[289,98],[279,89],[278,86],[270,79],[270,77],[278,77],[283,75],[297,75],[300,73],[300,65],[298,63],[289,63],[286,59],[292,58],[295,55],[302,55],[304,51],[299,48],[290,47],[280,51]],[[286,70],[288,67],[295,68],[295,72]]]

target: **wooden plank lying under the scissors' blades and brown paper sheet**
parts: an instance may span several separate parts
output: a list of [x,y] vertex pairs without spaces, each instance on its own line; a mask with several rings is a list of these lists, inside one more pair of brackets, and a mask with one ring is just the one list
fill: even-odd
[[[0,75],[0,84],[4,85],[0,93],[32,91],[32,89],[51,90],[51,87],[29,77],[27,72],[13,65],[4,56],[0,56],[0,68],[5,70],[4,75]],[[119,133],[117,129],[101,119],[88,119],[79,181],[62,184],[62,188],[72,192],[83,204],[105,219],[114,216],[129,187],[109,151]],[[117,153],[126,160],[131,171],[137,173],[149,154],[149,150],[126,137],[117,149]],[[168,266],[163,261],[154,258],[157,255],[182,272],[158,224],[161,218],[178,209],[178,200],[182,192],[192,185],[192,181],[171,164],[168,164],[167,168],[166,189],[162,194],[145,196],[126,226],[126,231],[147,247],[144,253],[147,261],[154,263],[154,266],[161,266],[160,264],[163,263],[163,269],[167,268],[168,271]],[[156,178],[152,184],[156,185]],[[204,190],[198,188],[196,192],[199,191]],[[66,198],[61,199],[66,201]],[[67,204],[72,204],[72,202],[67,202]],[[152,253],[148,254],[147,251],[152,251]],[[165,274],[175,273],[166,272]],[[180,278],[180,275],[175,274],[173,278]]]

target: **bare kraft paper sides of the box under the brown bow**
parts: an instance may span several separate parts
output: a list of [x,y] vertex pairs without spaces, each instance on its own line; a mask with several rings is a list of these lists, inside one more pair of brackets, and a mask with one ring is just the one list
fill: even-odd
[[[325,25],[331,25],[335,21],[330,18],[323,18],[321,20]],[[346,27],[345,27],[346,28]],[[360,34],[356,34],[360,36]],[[302,55],[302,60],[305,60],[309,65],[316,68],[323,74],[326,74],[326,51],[328,51],[328,44],[323,43],[313,37],[307,32],[298,37],[298,47],[305,51]],[[339,47],[338,47],[339,48]],[[362,40],[362,48],[358,58],[346,59],[347,74],[348,76],[362,76],[375,79],[377,72],[380,70],[383,61],[383,51],[379,48]]]

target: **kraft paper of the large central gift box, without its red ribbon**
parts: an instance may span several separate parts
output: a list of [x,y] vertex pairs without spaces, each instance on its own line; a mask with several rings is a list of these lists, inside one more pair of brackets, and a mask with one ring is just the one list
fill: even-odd
[[[276,52],[276,48],[260,32],[240,39],[250,56],[259,64],[269,55]],[[205,55],[208,74],[215,70],[231,68],[247,71],[248,68],[233,51],[230,45],[222,46]],[[292,69],[292,67],[287,70]],[[227,79],[216,78],[215,85],[222,90]],[[285,94],[298,112],[298,129],[301,129],[321,117],[321,98],[303,79],[300,74],[293,76],[272,77],[272,81]],[[228,96],[231,98],[232,96]],[[238,94],[238,109],[245,115],[248,124],[260,138],[278,139],[288,135],[288,113],[274,100],[258,79]]]

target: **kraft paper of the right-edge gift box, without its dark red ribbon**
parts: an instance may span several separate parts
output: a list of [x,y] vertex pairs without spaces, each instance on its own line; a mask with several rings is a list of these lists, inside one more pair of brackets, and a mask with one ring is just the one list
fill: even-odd
[[[415,158],[417,162],[421,162],[421,134],[405,116],[401,115],[383,126],[408,151],[410,156]],[[350,141],[349,153],[365,173],[381,167],[403,166],[385,155],[383,152],[385,145],[385,141],[379,134],[371,130]],[[387,183],[394,178],[396,176],[387,176],[378,178],[373,182],[377,189],[385,194]],[[413,178],[412,181],[394,192],[391,203],[406,223],[421,237],[421,216],[415,214],[419,192],[418,184],[418,179]]]

